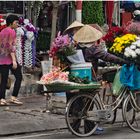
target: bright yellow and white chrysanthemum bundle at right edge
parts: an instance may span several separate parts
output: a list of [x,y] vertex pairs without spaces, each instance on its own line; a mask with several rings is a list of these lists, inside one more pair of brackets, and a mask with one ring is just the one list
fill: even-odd
[[138,62],[140,59],[140,38],[134,34],[117,37],[109,51],[124,59]]

